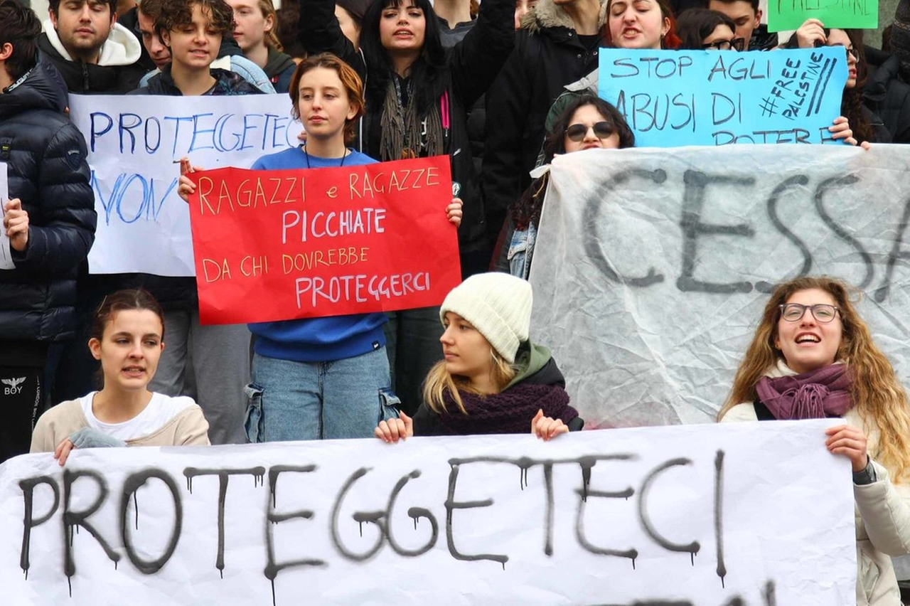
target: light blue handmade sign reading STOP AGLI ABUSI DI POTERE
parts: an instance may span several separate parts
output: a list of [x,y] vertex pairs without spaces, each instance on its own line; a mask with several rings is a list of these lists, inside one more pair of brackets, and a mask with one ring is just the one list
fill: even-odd
[[599,95],[639,147],[836,143],[846,53],[831,46],[758,51],[601,50]]

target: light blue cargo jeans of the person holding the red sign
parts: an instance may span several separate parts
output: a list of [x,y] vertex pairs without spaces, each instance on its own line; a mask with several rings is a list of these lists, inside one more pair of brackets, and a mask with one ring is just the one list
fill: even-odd
[[385,348],[331,362],[254,354],[245,427],[251,442],[371,438],[398,417]]

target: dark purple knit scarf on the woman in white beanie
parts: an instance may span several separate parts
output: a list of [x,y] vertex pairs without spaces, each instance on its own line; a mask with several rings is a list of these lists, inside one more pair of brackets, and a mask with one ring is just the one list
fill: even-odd
[[468,414],[462,414],[450,394],[445,394],[446,410],[440,414],[445,434],[467,436],[483,433],[531,433],[531,419],[539,409],[545,417],[568,423],[578,417],[569,406],[569,394],[558,385],[519,383],[505,391],[487,396],[459,392]]

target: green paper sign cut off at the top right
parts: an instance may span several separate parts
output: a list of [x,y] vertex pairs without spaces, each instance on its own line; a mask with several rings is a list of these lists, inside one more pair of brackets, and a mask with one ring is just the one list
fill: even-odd
[[825,27],[878,27],[878,0],[768,0],[768,30],[797,29],[806,19]]

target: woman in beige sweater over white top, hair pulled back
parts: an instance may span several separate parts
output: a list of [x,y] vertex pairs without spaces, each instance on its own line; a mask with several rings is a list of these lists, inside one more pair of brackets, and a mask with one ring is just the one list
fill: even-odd
[[162,318],[145,290],[120,290],[105,298],[88,341],[101,361],[104,388],[41,415],[32,452],[54,452],[63,465],[72,449],[208,445],[208,423],[192,398],[148,390],[165,348]]

